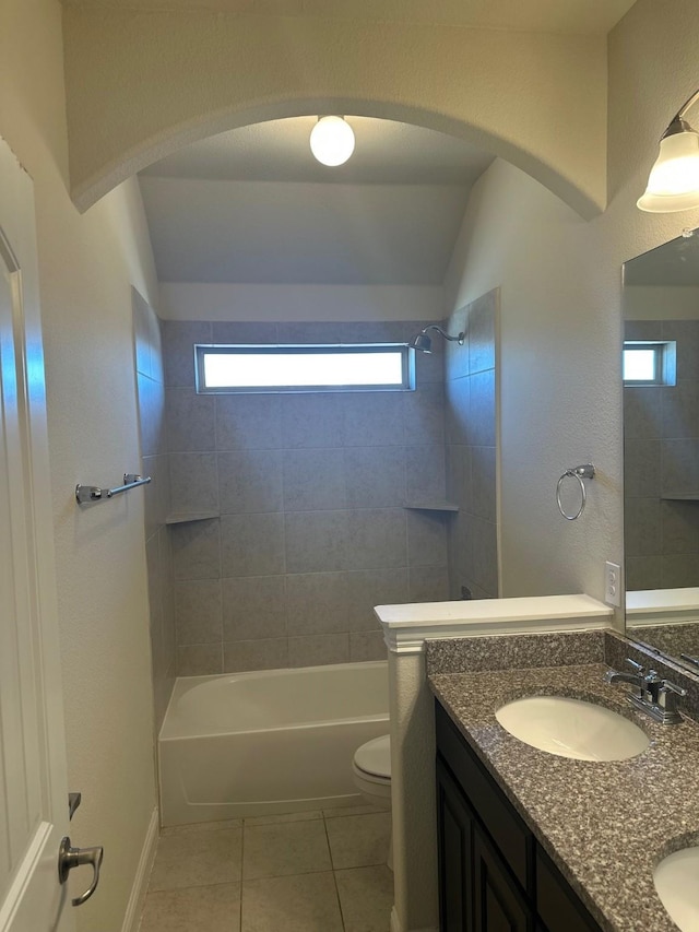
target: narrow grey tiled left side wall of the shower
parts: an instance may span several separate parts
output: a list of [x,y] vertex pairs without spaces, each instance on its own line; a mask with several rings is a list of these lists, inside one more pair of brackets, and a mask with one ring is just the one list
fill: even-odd
[[151,660],[156,732],[175,680],[176,638],[169,534],[169,470],[165,444],[165,385],[161,325],[132,288],[135,373],[141,432],[141,470],[153,482],[143,488],[145,556],[151,609]]

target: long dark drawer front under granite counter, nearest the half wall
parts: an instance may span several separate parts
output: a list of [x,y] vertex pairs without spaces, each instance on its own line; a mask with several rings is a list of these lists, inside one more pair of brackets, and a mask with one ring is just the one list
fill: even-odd
[[511,803],[476,758],[449,715],[435,706],[437,748],[477,818],[529,896],[534,892],[534,838]]

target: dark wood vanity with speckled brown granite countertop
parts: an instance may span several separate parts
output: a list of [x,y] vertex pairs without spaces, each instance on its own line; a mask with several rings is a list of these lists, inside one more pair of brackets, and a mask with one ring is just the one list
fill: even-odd
[[[629,647],[592,632],[427,644],[441,932],[676,928],[653,873],[699,843],[699,727],[662,725],[628,704],[625,684],[605,683]],[[621,760],[537,750],[496,718],[532,696],[605,707],[648,747]]]

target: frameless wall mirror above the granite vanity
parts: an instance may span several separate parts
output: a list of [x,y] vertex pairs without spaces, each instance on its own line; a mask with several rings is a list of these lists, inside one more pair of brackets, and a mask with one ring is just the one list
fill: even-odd
[[699,232],[624,266],[627,636],[699,673]]

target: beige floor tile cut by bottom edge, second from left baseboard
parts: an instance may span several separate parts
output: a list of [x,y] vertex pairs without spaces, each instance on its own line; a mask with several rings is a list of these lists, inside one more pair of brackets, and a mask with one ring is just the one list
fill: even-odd
[[343,932],[332,872],[242,883],[241,932]]

